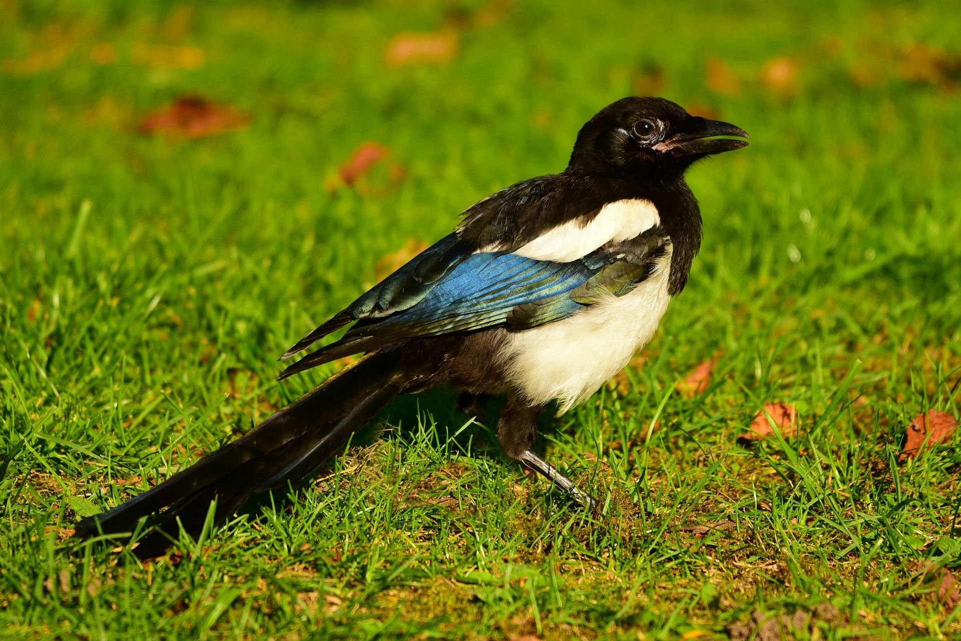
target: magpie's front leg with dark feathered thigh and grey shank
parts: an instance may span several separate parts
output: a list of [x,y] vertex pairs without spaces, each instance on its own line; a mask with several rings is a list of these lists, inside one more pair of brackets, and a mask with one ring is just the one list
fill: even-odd
[[530,449],[537,434],[537,417],[543,408],[543,405],[530,406],[517,396],[507,399],[501,411],[501,419],[497,423],[497,438],[501,441],[505,454],[554,482],[580,505],[593,507],[596,505],[594,499],[580,490],[574,481],[557,472],[554,465]]

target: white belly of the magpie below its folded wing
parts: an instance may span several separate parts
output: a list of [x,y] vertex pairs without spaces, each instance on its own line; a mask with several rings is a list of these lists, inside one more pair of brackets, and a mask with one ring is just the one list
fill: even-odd
[[671,300],[670,263],[669,247],[651,277],[627,295],[511,333],[501,352],[510,381],[530,403],[556,399],[558,413],[586,400],[653,337]]

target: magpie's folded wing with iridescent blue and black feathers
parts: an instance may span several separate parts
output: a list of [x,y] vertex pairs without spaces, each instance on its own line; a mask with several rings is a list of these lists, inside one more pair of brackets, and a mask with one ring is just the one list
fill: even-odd
[[[453,234],[452,234],[453,235]],[[279,379],[409,338],[504,326],[524,330],[577,313],[643,282],[670,242],[657,230],[570,262],[506,252],[464,255],[448,236],[336,314],[287,355],[357,321],[344,336],[303,357]]]

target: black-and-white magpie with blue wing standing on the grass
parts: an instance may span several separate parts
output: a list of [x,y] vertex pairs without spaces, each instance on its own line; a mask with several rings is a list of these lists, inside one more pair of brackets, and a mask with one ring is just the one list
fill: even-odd
[[287,350],[282,359],[350,326],[278,380],[362,357],[253,431],[83,519],[78,534],[129,533],[151,517],[136,554],[160,555],[178,528],[203,528],[212,501],[222,522],[252,495],[307,477],[398,394],[439,385],[459,390],[463,407],[505,395],[505,454],[591,505],[531,449],[538,416],[583,402],[651,340],[701,247],[684,173],[748,137],[663,98],[605,107],[580,129],[566,169],[465,210],[452,234]]

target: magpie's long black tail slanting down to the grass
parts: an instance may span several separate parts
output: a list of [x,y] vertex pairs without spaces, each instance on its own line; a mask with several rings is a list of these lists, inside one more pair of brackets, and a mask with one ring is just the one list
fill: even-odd
[[214,520],[222,522],[252,494],[308,476],[419,378],[406,360],[404,350],[360,358],[233,443],[127,503],[83,519],[77,534],[128,532],[140,518],[156,515],[136,555],[162,554],[178,532],[178,520],[193,535],[203,529],[214,498]]

